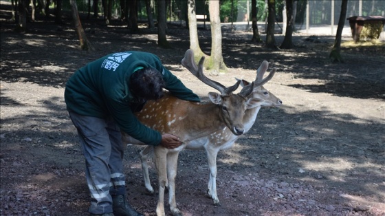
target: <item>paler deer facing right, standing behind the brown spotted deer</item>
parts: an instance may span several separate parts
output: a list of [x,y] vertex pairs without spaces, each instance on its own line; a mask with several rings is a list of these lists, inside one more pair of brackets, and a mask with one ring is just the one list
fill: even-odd
[[[186,64],[186,61],[182,61],[182,64]],[[190,65],[187,67],[192,66]],[[263,83],[267,83],[268,80],[272,79],[276,72],[276,68],[273,68],[269,76],[263,79],[263,75],[267,71],[268,67],[269,63],[267,61],[263,61],[261,63],[261,66],[256,70],[256,79],[254,80],[254,83],[261,83],[261,80],[263,80]],[[246,80],[241,80],[241,85],[246,87],[250,85],[250,83]],[[283,104],[281,99],[267,91],[267,89],[265,89],[262,85],[254,85],[252,94],[249,96],[249,98],[259,98],[263,99],[264,101],[260,106],[247,109],[245,111],[245,115],[243,116],[243,124],[245,127],[244,133],[247,133],[254,125],[256,116],[258,115],[261,107],[280,107]],[[230,149],[238,138],[239,136],[234,135],[228,128],[223,128],[221,130],[214,131],[214,133],[210,133],[208,136],[201,137],[197,140],[190,140],[190,142],[186,144],[185,149],[206,151],[210,171],[208,180],[208,195],[212,198],[214,205],[220,205],[217,195],[217,155],[220,150]],[[151,158],[152,155],[152,146],[147,146],[140,152],[140,160],[142,162],[142,171],[144,175],[144,185],[146,190],[150,193],[154,193],[154,189],[151,186],[147,161],[149,158]]]

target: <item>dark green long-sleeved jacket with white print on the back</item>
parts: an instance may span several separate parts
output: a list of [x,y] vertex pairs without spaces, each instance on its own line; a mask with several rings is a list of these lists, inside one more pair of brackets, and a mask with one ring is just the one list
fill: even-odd
[[78,69],[65,87],[67,110],[96,118],[112,116],[120,129],[133,138],[150,145],[159,144],[162,135],[142,125],[130,108],[136,101],[129,91],[129,79],[138,67],[157,69],[171,94],[183,100],[199,102],[199,97],[171,74],[157,56],[126,51],[109,54]]

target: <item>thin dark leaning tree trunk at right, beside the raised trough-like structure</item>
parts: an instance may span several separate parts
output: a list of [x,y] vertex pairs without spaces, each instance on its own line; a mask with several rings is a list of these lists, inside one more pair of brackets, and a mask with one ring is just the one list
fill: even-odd
[[342,0],[340,20],[338,21],[338,28],[336,34],[336,41],[334,42],[333,49],[330,52],[329,58],[333,62],[344,62],[341,56],[341,37],[342,30],[344,29],[345,19],[347,17],[347,5],[348,0]]

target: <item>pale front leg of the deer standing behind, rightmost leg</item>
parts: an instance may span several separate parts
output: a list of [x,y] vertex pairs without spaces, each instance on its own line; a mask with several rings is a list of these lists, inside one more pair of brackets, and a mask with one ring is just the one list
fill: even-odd
[[208,178],[208,195],[212,198],[212,201],[215,205],[219,204],[219,199],[217,195],[217,155],[219,148],[207,147],[207,160],[208,168],[210,170],[210,175]]

